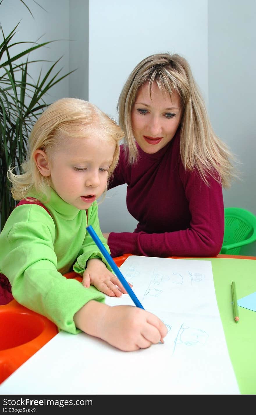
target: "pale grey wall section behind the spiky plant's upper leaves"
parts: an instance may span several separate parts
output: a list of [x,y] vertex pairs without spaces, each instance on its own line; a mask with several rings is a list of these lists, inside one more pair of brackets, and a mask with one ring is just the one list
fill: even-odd
[[[53,62],[63,58],[56,66],[57,70],[62,71],[59,76],[69,72],[69,0],[40,0],[38,3],[43,7],[39,7],[32,0],[24,0],[31,10],[34,18],[30,15],[27,8],[18,0],[4,0],[0,5],[0,23],[2,25],[5,36],[19,23],[17,34],[13,38],[13,42],[20,41],[38,41],[43,43],[55,39],[63,39],[53,42],[48,46],[33,51],[29,58],[31,60],[45,59],[51,62],[33,63],[29,66],[29,73],[37,80],[41,67],[42,75],[45,75]],[[40,38],[40,39],[39,39]],[[13,54],[19,53],[21,50],[28,49],[32,44],[17,45],[13,47]],[[24,59],[23,59],[24,61]],[[71,70],[74,69],[71,66]],[[53,86],[48,95],[44,98],[47,103],[51,103],[58,98],[69,96],[69,80],[64,78],[60,83]]]

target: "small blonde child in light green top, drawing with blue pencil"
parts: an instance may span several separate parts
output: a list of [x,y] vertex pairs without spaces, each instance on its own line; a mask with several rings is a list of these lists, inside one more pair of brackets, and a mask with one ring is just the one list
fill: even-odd
[[[118,162],[122,138],[120,127],[87,101],[63,98],[43,112],[29,137],[24,173],[8,171],[14,199],[25,203],[0,234],[0,273],[19,303],[61,330],[82,330],[131,351],[158,343],[167,329],[140,308],[104,304],[102,293],[126,291],[86,232],[92,225],[109,251],[96,200]],[[82,284],[62,275],[72,266]]]

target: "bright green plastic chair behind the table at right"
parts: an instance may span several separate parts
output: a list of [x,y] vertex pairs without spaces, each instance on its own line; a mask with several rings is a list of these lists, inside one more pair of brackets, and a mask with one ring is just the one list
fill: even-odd
[[241,247],[256,241],[256,216],[240,207],[225,207],[224,238],[220,254],[239,255]]

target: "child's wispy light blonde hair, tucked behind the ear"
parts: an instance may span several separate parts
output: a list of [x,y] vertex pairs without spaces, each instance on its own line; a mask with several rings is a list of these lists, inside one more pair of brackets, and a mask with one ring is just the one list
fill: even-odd
[[14,174],[15,166],[10,167],[7,172],[12,183],[13,198],[26,199],[31,190],[36,190],[47,201],[51,179],[39,172],[33,157],[34,151],[48,151],[56,146],[65,146],[67,137],[84,139],[92,133],[100,140],[115,143],[113,162],[109,168],[110,178],[119,159],[119,141],[124,137],[116,122],[95,105],[76,98],[63,98],[47,107],[31,130],[27,159],[22,164],[24,173]]

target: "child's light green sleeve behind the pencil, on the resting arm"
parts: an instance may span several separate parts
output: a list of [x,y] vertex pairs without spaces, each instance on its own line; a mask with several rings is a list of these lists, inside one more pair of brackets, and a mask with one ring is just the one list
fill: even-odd
[[[87,211],[87,215],[88,215],[87,226],[92,225],[94,231],[98,235],[98,237],[101,240],[102,244],[104,245],[104,247],[106,248],[106,250],[110,254],[110,249],[109,249],[108,244],[106,243],[106,238],[104,238],[104,236],[102,235],[101,229],[99,227],[97,202],[94,202],[93,205],[91,207],[89,207],[89,209]],[[77,272],[78,274],[82,275],[85,271],[87,261],[89,259],[93,259],[93,258],[101,259],[101,261],[103,261],[104,264],[106,265],[107,269],[109,269],[109,271],[113,272],[113,270],[111,269],[111,267],[107,263],[105,257],[101,254],[101,251],[99,250],[99,248],[95,244],[95,242],[92,239],[89,232],[86,232],[85,240],[84,240],[84,242],[82,244],[82,247],[80,249],[80,252],[78,254],[77,261],[75,262],[75,264],[73,266],[73,270],[75,272]]]

